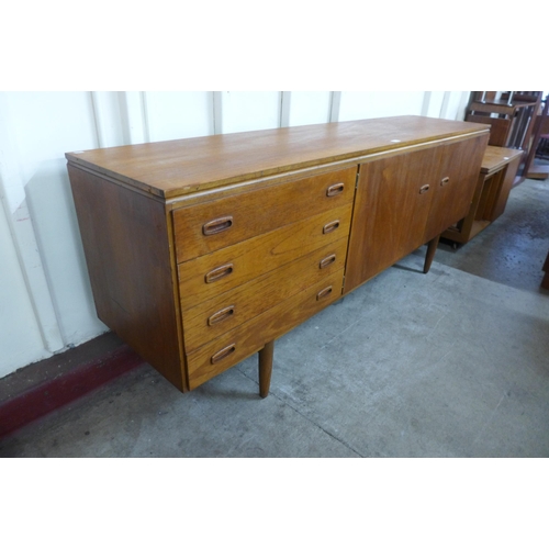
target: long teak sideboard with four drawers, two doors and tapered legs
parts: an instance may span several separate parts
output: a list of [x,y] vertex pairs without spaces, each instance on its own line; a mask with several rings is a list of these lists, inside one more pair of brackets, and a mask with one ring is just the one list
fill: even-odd
[[68,153],[99,317],[181,391],[469,211],[489,126],[395,116]]

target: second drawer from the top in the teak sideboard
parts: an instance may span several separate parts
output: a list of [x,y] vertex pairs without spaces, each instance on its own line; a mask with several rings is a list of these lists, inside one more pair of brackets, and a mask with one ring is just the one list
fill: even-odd
[[178,266],[181,310],[191,309],[349,234],[352,203]]

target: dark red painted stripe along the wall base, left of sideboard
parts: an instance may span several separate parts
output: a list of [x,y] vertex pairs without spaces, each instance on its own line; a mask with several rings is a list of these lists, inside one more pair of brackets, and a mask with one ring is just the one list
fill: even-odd
[[126,345],[0,403],[0,438],[98,389],[145,361]]

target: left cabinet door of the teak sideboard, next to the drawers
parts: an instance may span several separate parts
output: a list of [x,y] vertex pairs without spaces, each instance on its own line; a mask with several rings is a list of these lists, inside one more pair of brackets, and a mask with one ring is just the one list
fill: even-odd
[[439,147],[362,164],[345,273],[345,292],[425,243]]

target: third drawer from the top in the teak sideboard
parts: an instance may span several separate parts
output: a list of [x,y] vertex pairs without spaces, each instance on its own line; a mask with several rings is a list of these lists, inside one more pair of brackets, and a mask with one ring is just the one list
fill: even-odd
[[187,352],[248,322],[345,267],[347,238],[183,312]]

